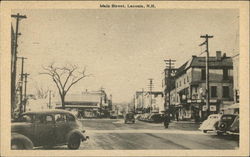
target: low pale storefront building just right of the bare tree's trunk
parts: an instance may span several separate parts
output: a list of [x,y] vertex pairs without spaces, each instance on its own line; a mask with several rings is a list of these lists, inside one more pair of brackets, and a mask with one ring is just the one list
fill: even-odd
[[[61,108],[58,105],[57,108]],[[79,117],[109,117],[112,102],[104,90],[82,92],[81,94],[68,94],[65,98],[65,109],[74,110]]]

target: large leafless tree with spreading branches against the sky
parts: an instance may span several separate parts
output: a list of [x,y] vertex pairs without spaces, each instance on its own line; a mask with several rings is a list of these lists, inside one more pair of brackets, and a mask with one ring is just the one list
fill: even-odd
[[84,67],[84,69],[81,71],[78,71],[78,69],[79,68],[76,65],[57,67],[52,63],[47,67],[43,67],[44,71],[40,73],[49,75],[56,84],[63,109],[65,108],[65,96],[70,88],[83,78],[90,76],[86,75],[86,67]]

